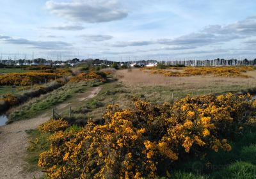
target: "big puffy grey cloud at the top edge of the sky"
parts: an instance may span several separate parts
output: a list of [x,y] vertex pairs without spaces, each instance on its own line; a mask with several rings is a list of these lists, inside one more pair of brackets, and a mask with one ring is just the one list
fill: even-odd
[[127,12],[120,8],[118,0],[47,1],[46,8],[58,17],[78,22],[110,22],[127,17]]

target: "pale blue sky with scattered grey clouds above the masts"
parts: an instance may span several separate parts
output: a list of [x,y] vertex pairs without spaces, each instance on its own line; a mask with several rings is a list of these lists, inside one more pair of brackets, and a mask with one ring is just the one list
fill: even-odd
[[1,0],[0,59],[256,58],[255,0]]

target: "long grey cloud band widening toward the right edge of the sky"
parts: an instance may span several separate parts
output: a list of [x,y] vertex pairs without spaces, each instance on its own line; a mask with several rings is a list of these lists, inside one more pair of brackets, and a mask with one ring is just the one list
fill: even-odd
[[[226,26],[207,26],[198,33],[178,36],[176,38],[163,38],[156,40],[141,40],[130,42],[115,42],[112,47],[146,46],[146,45],[170,45],[182,46],[182,49],[193,49],[216,43],[230,42],[232,40],[248,38],[256,35],[256,16],[237,21]],[[175,49],[170,47],[170,49]],[[177,49],[179,50],[179,48]]]

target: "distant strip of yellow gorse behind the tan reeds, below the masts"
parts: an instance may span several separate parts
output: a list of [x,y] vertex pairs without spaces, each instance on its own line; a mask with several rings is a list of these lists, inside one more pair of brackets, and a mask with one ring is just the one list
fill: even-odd
[[[250,76],[244,75],[244,72],[253,70],[251,66],[221,66],[221,67],[185,67],[183,71],[172,71],[180,70],[180,68],[167,68],[165,70],[157,70],[156,68],[141,68],[141,70],[150,70],[151,74],[161,74],[168,77],[189,77],[194,75],[214,75],[216,77],[245,77]],[[182,68],[181,68],[182,69]],[[147,72],[147,71],[145,71]]]

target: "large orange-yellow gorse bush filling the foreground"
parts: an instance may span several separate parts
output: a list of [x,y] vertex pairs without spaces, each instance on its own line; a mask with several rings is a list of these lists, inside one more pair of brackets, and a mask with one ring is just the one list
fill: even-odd
[[51,149],[40,155],[38,166],[49,178],[157,178],[161,171],[170,175],[174,162],[188,153],[232,150],[228,140],[254,122],[255,109],[250,95],[231,93],[188,96],[173,105],[109,105],[103,125],[89,121],[79,132],[52,134]]

